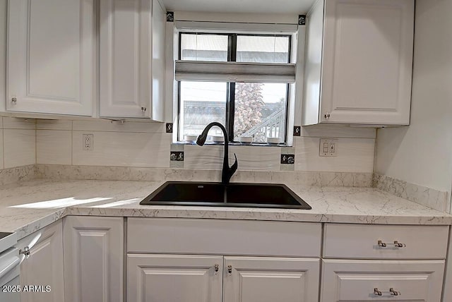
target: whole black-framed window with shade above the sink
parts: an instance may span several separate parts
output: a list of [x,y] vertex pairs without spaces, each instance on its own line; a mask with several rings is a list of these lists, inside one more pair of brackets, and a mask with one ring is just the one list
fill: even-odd
[[[179,32],[176,79],[178,139],[199,135],[208,123],[225,125],[230,142],[286,142],[292,35]],[[221,135],[214,127],[209,135]]]

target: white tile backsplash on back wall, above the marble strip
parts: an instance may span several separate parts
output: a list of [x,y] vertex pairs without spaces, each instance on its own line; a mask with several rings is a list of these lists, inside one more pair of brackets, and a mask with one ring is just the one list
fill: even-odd
[[[164,123],[37,120],[36,127],[37,164],[171,167],[171,134],[165,133]],[[94,135],[93,150],[83,149],[83,134]],[[319,140],[325,137],[338,138],[338,157],[319,157]],[[295,154],[295,171],[372,173],[374,145],[374,128],[321,125],[303,128],[294,147],[232,146],[230,157],[237,153],[239,169],[244,170],[289,168],[280,165],[285,152]],[[185,150],[184,168],[222,167],[222,147],[185,145],[180,150]]]

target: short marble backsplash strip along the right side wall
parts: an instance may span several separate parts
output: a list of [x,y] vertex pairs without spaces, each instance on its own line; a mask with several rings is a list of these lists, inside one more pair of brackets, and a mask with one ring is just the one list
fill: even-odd
[[420,203],[434,210],[449,212],[447,192],[408,183],[389,176],[374,174],[372,186],[401,198]]

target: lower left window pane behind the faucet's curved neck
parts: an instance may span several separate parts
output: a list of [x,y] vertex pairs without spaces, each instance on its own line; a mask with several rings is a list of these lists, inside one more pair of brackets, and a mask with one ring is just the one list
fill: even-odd
[[[184,140],[184,135],[200,135],[213,121],[225,125],[227,83],[182,81],[180,88],[179,140]],[[222,132],[213,127],[208,134],[222,135]]]

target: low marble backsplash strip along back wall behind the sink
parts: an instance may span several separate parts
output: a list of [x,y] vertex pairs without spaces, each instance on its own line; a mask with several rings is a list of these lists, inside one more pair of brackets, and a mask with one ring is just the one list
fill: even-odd
[[[37,164],[37,177],[46,179],[121,181],[220,181],[220,170],[93,167]],[[371,173],[313,171],[237,171],[234,182],[296,183],[299,186],[370,187]]]

